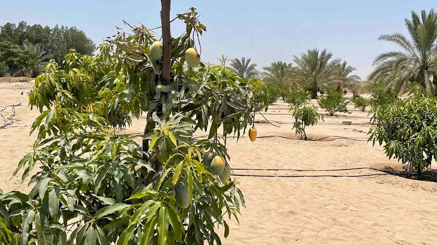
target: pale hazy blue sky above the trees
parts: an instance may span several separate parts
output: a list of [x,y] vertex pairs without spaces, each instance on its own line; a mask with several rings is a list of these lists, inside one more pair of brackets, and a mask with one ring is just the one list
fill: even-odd
[[[160,0],[0,0],[0,25],[21,20],[28,25],[75,26],[96,44],[129,30],[122,20],[148,28],[160,26]],[[252,58],[257,69],[273,61],[293,62],[306,50],[326,48],[334,58],[347,61],[362,79],[372,71],[372,61],[383,52],[400,50],[378,41],[382,34],[407,35],[404,19],[411,11],[427,12],[435,0],[173,0],[171,17],[196,7],[207,31],[201,37],[202,61]],[[174,23],[174,24],[173,24]],[[177,37],[185,30],[173,22]],[[159,34],[159,33],[158,33]]]

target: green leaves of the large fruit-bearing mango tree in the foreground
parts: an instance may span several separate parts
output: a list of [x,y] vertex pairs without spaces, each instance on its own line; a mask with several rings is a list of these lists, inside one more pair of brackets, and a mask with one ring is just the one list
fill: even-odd
[[[267,91],[258,79],[236,76],[226,59],[184,65],[190,34],[206,29],[194,8],[178,18],[186,33],[171,44],[170,80],[151,60],[156,39],[144,26],[119,32],[96,57],[73,50],[64,69],[51,61],[36,78],[29,103],[41,112],[31,131],[37,139],[14,175],[24,169],[24,181],[39,170],[29,194],[0,196],[0,242],[220,244],[218,225],[228,236],[225,217],[238,220],[243,195],[201,161],[213,149],[229,164],[226,136],[241,137],[251,113],[267,109]],[[119,130],[145,112],[144,135]],[[209,131],[207,138],[196,141],[195,130]],[[188,208],[172,195],[181,185]]]

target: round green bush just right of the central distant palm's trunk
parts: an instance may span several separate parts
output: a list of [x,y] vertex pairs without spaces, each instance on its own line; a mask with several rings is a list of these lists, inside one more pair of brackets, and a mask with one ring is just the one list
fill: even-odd
[[349,101],[343,96],[342,91],[328,89],[323,97],[318,99],[320,108],[325,109],[329,116],[334,116],[336,112],[348,112],[346,106]]

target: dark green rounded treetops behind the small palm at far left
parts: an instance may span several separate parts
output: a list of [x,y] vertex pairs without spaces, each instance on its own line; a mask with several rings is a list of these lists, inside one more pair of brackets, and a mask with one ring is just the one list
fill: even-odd
[[96,50],[93,41],[76,27],[30,26],[25,21],[20,21],[18,25],[8,22],[0,26],[0,41],[9,41],[18,46],[25,45],[26,41],[32,44],[41,43],[46,46],[46,54],[52,54],[59,64],[62,64],[69,49],[86,55],[92,55]]

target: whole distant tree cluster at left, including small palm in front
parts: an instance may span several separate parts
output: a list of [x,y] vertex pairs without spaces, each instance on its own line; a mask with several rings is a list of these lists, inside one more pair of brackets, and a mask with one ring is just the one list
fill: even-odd
[[62,65],[68,50],[92,55],[94,42],[76,27],[6,23],[0,26],[0,77],[36,76],[50,59]]

